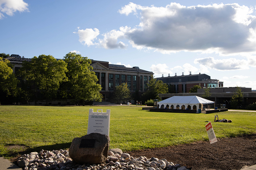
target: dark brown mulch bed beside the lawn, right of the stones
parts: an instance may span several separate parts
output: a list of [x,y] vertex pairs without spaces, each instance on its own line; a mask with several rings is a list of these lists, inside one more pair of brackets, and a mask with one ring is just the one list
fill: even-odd
[[128,153],[133,157],[165,158],[169,162],[192,169],[241,169],[256,164],[256,134],[218,139],[213,144],[198,141]]

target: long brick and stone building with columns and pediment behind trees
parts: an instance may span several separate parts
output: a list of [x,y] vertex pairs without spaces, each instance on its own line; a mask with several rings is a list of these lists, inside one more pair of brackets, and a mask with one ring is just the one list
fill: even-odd
[[[24,58],[17,54],[12,54],[10,57],[5,58],[13,64],[13,72],[22,67],[23,61],[31,62],[31,58]],[[59,60],[59,59],[57,59]],[[101,85],[101,94],[103,95],[102,101],[111,101],[113,96],[114,87],[127,83],[131,94],[138,92],[139,95],[147,90],[147,83],[153,75],[153,72],[140,69],[139,67],[127,68],[124,65],[109,64],[107,61],[97,61],[91,59],[91,66],[98,78],[98,84]],[[21,78],[19,78],[21,79]]]

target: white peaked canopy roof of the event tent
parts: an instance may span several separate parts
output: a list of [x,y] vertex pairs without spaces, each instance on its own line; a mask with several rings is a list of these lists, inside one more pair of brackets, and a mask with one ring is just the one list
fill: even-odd
[[163,101],[159,101],[158,104],[211,104],[214,101],[210,101],[198,96],[172,96]]

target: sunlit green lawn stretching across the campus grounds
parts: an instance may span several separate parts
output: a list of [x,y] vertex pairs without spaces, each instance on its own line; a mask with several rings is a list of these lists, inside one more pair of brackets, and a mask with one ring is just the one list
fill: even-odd
[[[110,148],[132,151],[209,140],[211,121],[217,138],[256,133],[256,112],[220,112],[233,123],[215,123],[212,114],[163,113],[131,106],[0,106],[0,155],[65,149],[87,134],[89,108],[110,109]],[[21,145],[10,149],[10,145]]]

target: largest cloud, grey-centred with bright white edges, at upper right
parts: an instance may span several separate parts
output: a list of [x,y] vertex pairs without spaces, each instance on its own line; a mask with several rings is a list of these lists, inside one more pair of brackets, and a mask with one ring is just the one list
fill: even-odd
[[118,12],[138,13],[141,22],[133,28],[121,26],[118,31],[102,34],[104,38],[99,39],[99,44],[107,49],[125,48],[127,45],[118,40],[125,38],[138,50],[145,48],[165,54],[180,51],[215,52],[222,56],[256,54],[253,10],[237,3],[189,7],[179,3],[166,7],[129,3]]

